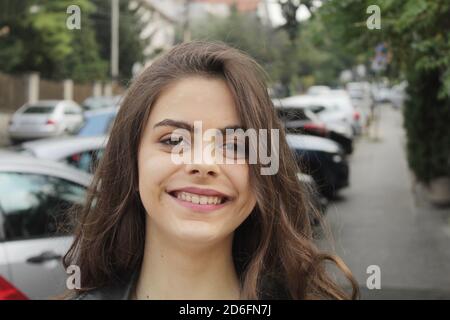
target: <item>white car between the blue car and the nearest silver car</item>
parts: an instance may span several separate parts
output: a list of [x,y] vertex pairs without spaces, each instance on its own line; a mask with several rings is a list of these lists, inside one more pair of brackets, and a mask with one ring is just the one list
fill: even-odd
[[107,141],[107,136],[60,137],[24,142],[9,149],[93,173]]

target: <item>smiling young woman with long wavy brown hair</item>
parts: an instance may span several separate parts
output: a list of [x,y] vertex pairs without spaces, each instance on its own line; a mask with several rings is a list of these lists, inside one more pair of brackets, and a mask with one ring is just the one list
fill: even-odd
[[[174,161],[210,145],[199,144],[205,130],[230,128],[278,129],[278,139],[258,141],[277,145],[276,172],[250,163],[255,140],[236,135],[212,143],[213,153],[243,161]],[[309,195],[281,129],[263,71],[242,52],[190,42],[155,61],[128,90],[77,219],[64,258],[81,271],[74,298],[355,298],[348,268],[313,244]],[[327,275],[327,260],[351,295]]]

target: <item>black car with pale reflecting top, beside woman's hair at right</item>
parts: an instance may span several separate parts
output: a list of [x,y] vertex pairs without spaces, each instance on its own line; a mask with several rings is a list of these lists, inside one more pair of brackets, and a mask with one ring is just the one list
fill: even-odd
[[342,147],[320,137],[288,134],[286,136],[302,173],[314,178],[318,190],[328,199],[349,185],[349,166]]

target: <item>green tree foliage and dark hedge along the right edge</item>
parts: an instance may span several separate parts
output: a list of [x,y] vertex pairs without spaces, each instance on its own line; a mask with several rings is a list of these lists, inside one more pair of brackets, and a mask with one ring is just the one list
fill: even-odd
[[[367,6],[381,9],[380,32],[363,27]],[[450,1],[330,0],[322,16],[329,35],[354,55],[388,43],[390,70],[406,76],[408,163],[419,180],[450,175]],[[393,79],[395,80],[395,79]]]

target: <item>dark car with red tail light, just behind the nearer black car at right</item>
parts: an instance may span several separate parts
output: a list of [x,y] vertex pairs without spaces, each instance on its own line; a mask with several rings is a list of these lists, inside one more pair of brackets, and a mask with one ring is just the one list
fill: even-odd
[[[348,126],[339,123],[326,123],[311,109],[319,105],[297,103],[295,100],[280,102],[274,100],[278,117],[283,122],[287,133],[300,133],[329,138],[339,143],[347,154],[353,152],[353,136]],[[314,109],[317,111],[317,109]]]

